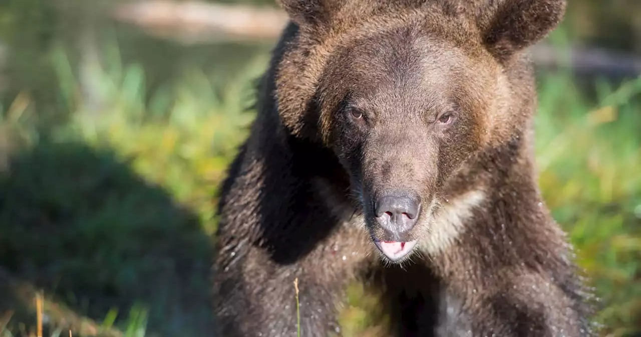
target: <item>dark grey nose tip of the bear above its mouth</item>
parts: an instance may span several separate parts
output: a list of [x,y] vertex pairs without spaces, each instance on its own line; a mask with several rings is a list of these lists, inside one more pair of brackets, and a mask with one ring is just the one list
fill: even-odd
[[410,231],[419,218],[420,201],[408,194],[387,194],[376,202],[376,220],[393,234]]

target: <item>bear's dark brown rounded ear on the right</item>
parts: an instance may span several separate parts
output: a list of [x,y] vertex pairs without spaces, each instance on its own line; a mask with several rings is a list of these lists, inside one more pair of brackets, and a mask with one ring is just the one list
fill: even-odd
[[487,0],[478,8],[483,42],[505,61],[544,39],[565,15],[567,0]]

